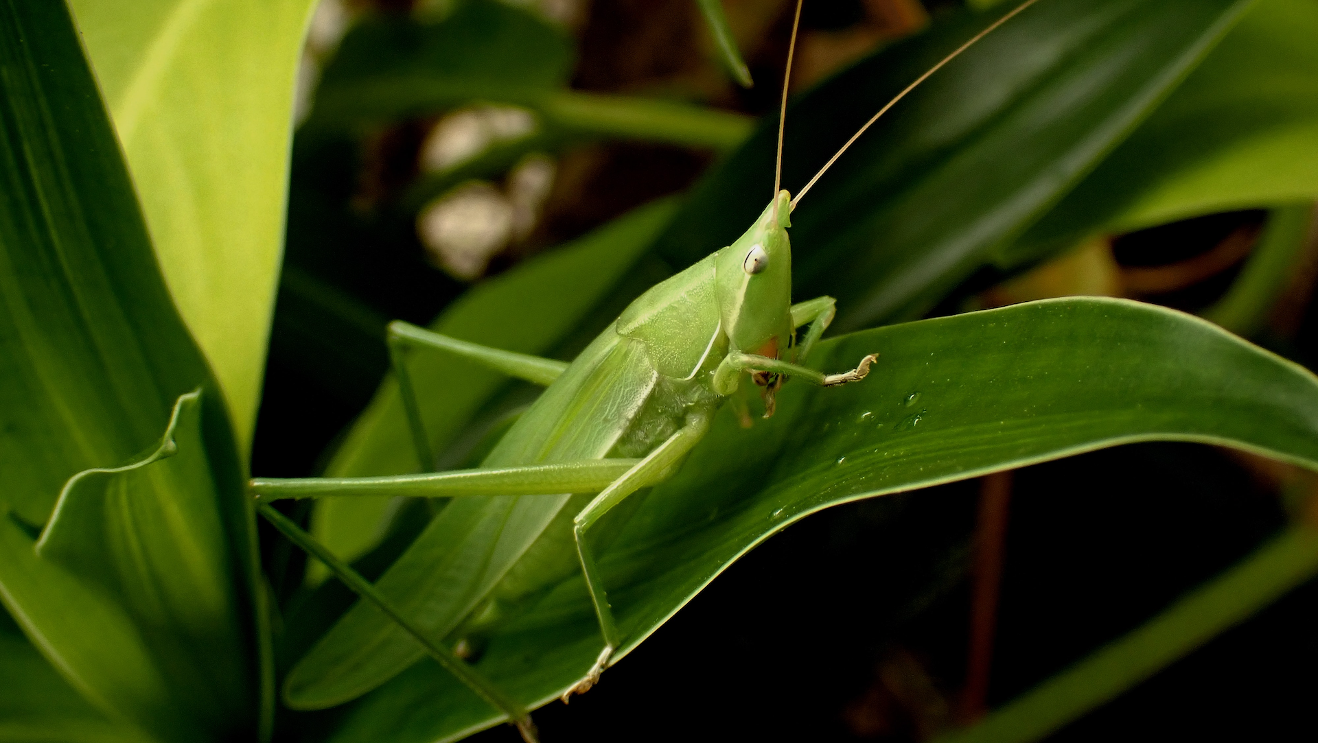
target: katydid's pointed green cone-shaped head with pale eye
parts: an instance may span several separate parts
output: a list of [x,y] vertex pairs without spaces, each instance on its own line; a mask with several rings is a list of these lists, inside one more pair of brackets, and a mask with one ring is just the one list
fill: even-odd
[[791,195],[779,191],[714,260],[718,315],[731,348],[775,358],[792,333]]

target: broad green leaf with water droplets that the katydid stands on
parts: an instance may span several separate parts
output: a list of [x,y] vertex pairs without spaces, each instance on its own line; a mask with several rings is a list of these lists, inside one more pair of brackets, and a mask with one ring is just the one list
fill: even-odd
[[[822,344],[812,366],[873,352],[882,356],[866,381],[789,383],[778,415],[751,429],[722,411],[677,474],[606,535],[601,569],[625,651],[747,549],[837,503],[1141,440],[1318,468],[1318,378],[1181,312],[1044,300],[853,333]],[[538,706],[590,667],[600,643],[573,577],[490,638],[477,665]],[[497,717],[422,661],[343,719],[337,743],[410,743]]]

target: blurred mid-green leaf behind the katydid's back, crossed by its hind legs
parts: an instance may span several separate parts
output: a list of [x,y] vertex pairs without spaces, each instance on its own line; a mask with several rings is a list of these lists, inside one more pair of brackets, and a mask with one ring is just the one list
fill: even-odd
[[[485,282],[451,306],[435,331],[496,348],[542,354],[573,331],[635,263],[672,217],[675,206],[643,207],[572,245]],[[442,353],[414,356],[411,374],[426,432],[436,451],[448,447],[506,377]],[[328,477],[416,472],[411,433],[398,387],[385,382],[331,461]],[[316,505],[312,534],[347,560],[384,534],[390,498],[327,498]],[[323,572],[312,573],[316,578]]]

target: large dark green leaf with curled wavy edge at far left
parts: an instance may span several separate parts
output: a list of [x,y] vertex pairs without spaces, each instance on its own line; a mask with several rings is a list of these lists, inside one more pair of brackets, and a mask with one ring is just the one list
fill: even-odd
[[[157,739],[252,735],[262,685],[241,464],[62,3],[0,3],[0,598],[105,714]],[[53,519],[70,477],[140,461],[198,386],[187,457],[121,476],[100,518],[82,491]],[[43,524],[80,557],[38,556]]]

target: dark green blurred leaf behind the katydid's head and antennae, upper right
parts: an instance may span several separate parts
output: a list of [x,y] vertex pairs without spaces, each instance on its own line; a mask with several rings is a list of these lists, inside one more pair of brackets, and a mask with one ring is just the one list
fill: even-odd
[[[924,314],[1093,170],[1248,3],[1039,3],[880,119],[792,213],[795,294],[838,298],[837,329]],[[800,190],[891,96],[1003,11],[953,13],[803,95],[783,186]],[[656,245],[687,266],[764,208],[776,123],[692,194]]]

